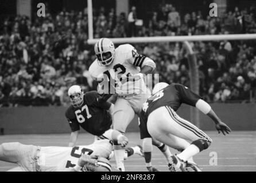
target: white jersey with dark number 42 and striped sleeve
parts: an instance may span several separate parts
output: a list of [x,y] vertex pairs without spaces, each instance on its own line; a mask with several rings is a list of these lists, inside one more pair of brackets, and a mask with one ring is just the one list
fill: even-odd
[[[137,50],[129,44],[120,45],[115,49],[115,57],[113,62],[107,66],[100,66],[96,59],[89,68],[89,72],[93,79],[101,78],[102,74],[107,74],[117,81],[117,75],[123,76],[129,74],[138,74],[146,62],[153,62],[148,57],[138,55]],[[151,63],[154,67],[154,62]],[[108,78],[109,78],[108,76]],[[119,75],[120,78],[120,75]],[[110,78],[109,78],[110,79]],[[119,80],[119,79],[118,79]],[[115,87],[115,92],[120,96],[127,96],[130,94],[146,93],[146,84],[143,78],[137,81],[118,82]],[[121,85],[120,85],[120,84]]]

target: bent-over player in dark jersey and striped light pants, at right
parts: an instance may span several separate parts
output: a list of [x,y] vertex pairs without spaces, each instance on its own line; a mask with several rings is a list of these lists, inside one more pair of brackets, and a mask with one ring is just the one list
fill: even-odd
[[[186,145],[185,140],[192,142],[187,143],[177,156],[171,157],[168,164],[170,171],[187,171],[186,161],[210,146],[212,140],[207,134],[176,114],[176,110],[183,103],[207,114],[215,122],[219,133],[226,135],[225,133],[231,132],[231,129],[216,116],[211,106],[188,87],[176,83],[157,83],[154,90],[156,92],[153,92],[153,96],[143,104],[139,124],[141,138],[148,139],[143,141],[143,152],[148,166],[151,165],[152,137],[175,149],[180,148],[181,142]],[[200,171],[196,165],[192,168]]]

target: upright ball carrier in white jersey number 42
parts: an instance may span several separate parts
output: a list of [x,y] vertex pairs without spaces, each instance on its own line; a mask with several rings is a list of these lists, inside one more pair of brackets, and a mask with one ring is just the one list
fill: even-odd
[[[139,55],[129,44],[115,49],[108,38],[99,39],[94,50],[97,58],[89,68],[91,77],[99,82],[98,92],[118,94],[112,113],[113,129],[124,134],[127,125],[135,114],[141,112],[143,102],[149,97],[143,77],[152,73],[156,64],[152,59]],[[117,134],[113,137],[117,138]],[[114,149],[117,168],[124,171],[124,149],[118,144]]]

